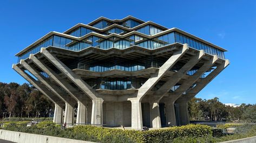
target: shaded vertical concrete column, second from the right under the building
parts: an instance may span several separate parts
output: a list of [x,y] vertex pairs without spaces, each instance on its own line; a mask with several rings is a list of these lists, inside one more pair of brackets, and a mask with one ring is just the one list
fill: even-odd
[[166,125],[167,126],[176,126],[176,116],[173,103],[165,103],[166,110]]

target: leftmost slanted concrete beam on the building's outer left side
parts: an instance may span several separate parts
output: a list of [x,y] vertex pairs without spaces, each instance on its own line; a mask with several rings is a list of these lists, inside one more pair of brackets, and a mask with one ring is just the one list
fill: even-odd
[[31,77],[29,74],[27,74],[24,70],[19,68],[17,65],[12,65],[12,69],[17,71],[19,75],[21,75],[25,80],[27,80],[30,84],[32,84],[36,89],[38,89],[40,92],[42,92],[43,95],[48,97],[51,102],[54,104],[57,104],[58,106],[62,106],[64,102],[60,101],[58,97],[56,97],[52,92],[48,89],[46,89],[41,83],[36,81],[33,77]]

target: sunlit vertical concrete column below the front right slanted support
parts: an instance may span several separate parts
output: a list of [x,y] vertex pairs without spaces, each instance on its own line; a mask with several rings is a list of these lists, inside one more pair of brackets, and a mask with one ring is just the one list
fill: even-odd
[[129,99],[129,101],[132,102],[132,128],[142,129],[143,121],[142,121],[141,102],[137,98]]

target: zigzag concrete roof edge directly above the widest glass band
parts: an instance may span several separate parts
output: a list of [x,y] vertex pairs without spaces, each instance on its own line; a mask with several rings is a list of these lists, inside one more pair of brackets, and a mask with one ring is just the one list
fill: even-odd
[[160,35],[163,35],[163,34],[166,34],[166,33],[170,33],[170,32],[179,32],[179,33],[184,34],[184,35],[186,35],[186,36],[188,36],[190,38],[194,38],[195,40],[203,42],[204,44],[207,44],[207,45],[212,46],[214,48],[220,49],[221,51],[224,51],[224,52],[227,51],[224,48],[216,46],[216,45],[212,44],[211,42],[208,42],[208,41],[206,41],[204,39],[196,37],[195,35],[192,35],[190,33],[182,31],[179,28],[170,28],[169,30],[162,31],[162,32],[154,34],[154,35],[146,35],[146,34],[143,34],[143,33],[137,32],[137,31],[132,31],[132,32],[126,33],[124,35],[119,35],[119,34],[116,34],[116,33],[112,33],[112,34],[109,34],[109,35],[102,35],[102,34],[99,34],[99,33],[91,32],[91,33],[88,33],[88,34],[84,35],[83,37],[79,37],[79,38],[78,37],[74,37],[72,35],[68,35],[68,34],[52,31],[52,32],[49,32],[48,34],[44,35],[42,38],[38,39],[37,41],[35,41],[31,45],[29,45],[28,47],[22,49],[22,51],[18,52],[15,56],[19,56],[22,53],[24,53],[25,51],[28,51],[28,49],[30,49],[31,47],[39,44],[41,41],[49,38],[51,35],[60,35],[60,36],[65,37],[65,38],[70,38],[70,39],[73,39],[73,40],[81,41],[83,39],[86,39],[86,38],[90,37],[91,35],[96,35],[97,37],[106,38],[107,39],[107,38],[110,38],[110,37],[113,37],[113,36],[119,37],[119,38],[126,38],[126,37],[128,37],[130,35],[136,34],[136,35],[140,35],[140,36],[142,36],[144,38],[152,39],[152,38],[155,38],[155,37],[158,37]]

